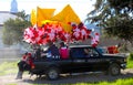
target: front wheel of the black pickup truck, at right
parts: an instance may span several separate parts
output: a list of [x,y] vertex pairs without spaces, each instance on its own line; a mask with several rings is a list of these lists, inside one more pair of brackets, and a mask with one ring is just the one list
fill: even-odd
[[113,76],[119,75],[120,71],[121,71],[120,66],[115,63],[111,64],[109,67],[109,73]]

